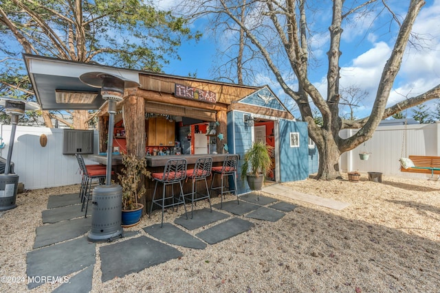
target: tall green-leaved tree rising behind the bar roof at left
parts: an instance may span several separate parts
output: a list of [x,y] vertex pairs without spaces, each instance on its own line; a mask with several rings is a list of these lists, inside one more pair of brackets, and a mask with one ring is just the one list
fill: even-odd
[[[23,60],[17,61],[23,51],[160,71],[167,57],[177,56],[182,38],[199,34],[190,34],[184,19],[156,10],[153,1],[5,0],[0,5],[0,36],[0,51],[8,56],[1,62],[1,71],[17,80],[2,79],[2,83],[9,93],[21,90],[26,98],[29,86],[17,85],[27,78]],[[48,127],[52,127],[51,117],[59,119],[47,112],[43,117]],[[87,110],[75,110],[72,117],[72,127],[79,129],[87,128],[91,119]]]

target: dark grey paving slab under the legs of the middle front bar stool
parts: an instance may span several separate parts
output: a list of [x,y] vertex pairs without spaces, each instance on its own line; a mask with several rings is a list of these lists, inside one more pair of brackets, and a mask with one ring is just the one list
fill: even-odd
[[181,215],[179,218],[176,218],[174,222],[175,224],[179,224],[188,230],[195,230],[228,217],[229,215],[225,213],[221,213],[219,211],[212,211],[211,213],[210,209],[204,208],[193,211],[192,219],[190,215],[188,215],[188,220],[186,220],[185,215]]

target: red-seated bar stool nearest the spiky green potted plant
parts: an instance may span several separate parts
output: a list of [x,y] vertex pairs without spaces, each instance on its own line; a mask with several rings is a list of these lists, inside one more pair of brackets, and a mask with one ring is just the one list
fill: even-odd
[[[220,198],[221,198],[221,204],[220,209],[223,208],[223,194],[232,193],[234,191],[236,196],[236,202],[240,204],[239,202],[239,195],[236,193],[236,167],[239,162],[239,155],[238,154],[228,154],[225,156],[225,159],[223,161],[223,166],[219,167],[212,167],[212,182],[211,182],[211,191],[215,189],[221,189]],[[219,174],[221,176],[221,185],[219,187],[212,187],[214,185],[214,179],[215,175]],[[223,181],[225,181],[223,178],[229,178],[229,176],[232,176],[232,179],[234,180],[234,189],[229,189],[228,191],[224,191],[225,184],[223,184]]]

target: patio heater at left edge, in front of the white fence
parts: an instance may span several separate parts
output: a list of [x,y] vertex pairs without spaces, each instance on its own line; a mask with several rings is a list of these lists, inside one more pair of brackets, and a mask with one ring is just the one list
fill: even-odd
[[5,172],[0,174],[0,211],[7,211],[17,207],[17,189],[19,187],[19,176],[10,173],[12,148],[14,148],[15,130],[19,123],[19,117],[23,116],[25,110],[36,110],[39,105],[31,102],[24,102],[20,99],[0,97],[0,105],[5,107],[5,113],[11,117],[12,130],[9,140],[8,157],[6,159]]

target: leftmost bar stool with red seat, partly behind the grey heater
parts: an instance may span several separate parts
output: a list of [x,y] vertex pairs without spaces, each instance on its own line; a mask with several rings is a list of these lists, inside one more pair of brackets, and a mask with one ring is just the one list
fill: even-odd
[[[104,184],[104,180],[105,180],[105,176],[107,174],[107,168],[104,166],[104,168],[102,167],[89,167],[87,169],[85,163],[84,163],[84,159],[83,156],[81,156],[80,154],[77,154],[76,158],[78,159],[78,163],[80,165],[80,169],[83,172],[83,178],[84,178],[84,183],[81,186],[81,191],[82,194],[80,194],[81,196],[81,202],[83,202],[83,204],[81,205],[81,211],[83,211],[84,206],[85,206],[85,215],[84,218],[87,218],[87,209],[89,208],[89,199],[91,196],[91,185],[93,183],[93,180],[98,179],[98,182],[100,185]],[[111,174],[113,175],[113,171],[111,172]]]

